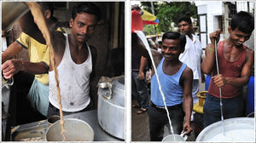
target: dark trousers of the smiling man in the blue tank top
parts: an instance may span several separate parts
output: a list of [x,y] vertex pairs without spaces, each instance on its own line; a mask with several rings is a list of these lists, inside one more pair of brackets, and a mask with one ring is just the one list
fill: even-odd
[[[168,111],[171,118],[174,134],[181,134],[183,130],[183,118],[185,115],[183,112],[183,106],[170,106],[168,107]],[[148,119],[150,140],[161,141],[163,139],[165,125],[168,127],[168,129],[170,129],[166,110],[154,106],[149,106]]]

